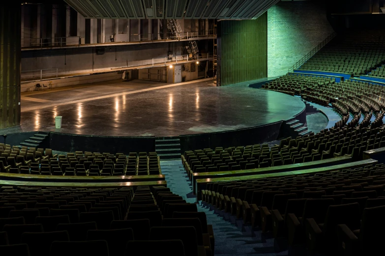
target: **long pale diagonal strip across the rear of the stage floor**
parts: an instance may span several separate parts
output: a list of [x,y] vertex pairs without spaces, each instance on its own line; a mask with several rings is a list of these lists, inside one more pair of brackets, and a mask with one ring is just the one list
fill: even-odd
[[[35,109],[43,109],[43,108],[47,108],[47,107],[74,104],[74,103],[79,103],[79,102],[89,102],[89,101],[101,100],[101,99],[117,97],[117,96],[121,96],[121,95],[134,94],[134,93],[140,93],[140,92],[148,92],[148,91],[153,91],[153,90],[158,90],[158,89],[170,88],[170,87],[175,87],[175,86],[179,86],[179,85],[186,85],[186,84],[202,82],[202,81],[210,81],[210,80],[213,80],[213,78],[210,77],[210,78],[204,78],[204,79],[199,79],[199,80],[192,80],[192,81],[188,81],[188,82],[168,84],[168,85],[157,86],[157,87],[153,87],[153,88],[141,89],[141,90],[137,90],[137,91],[121,92],[121,93],[110,94],[110,95],[105,95],[105,96],[93,97],[93,98],[89,98],[89,99],[75,100],[75,101],[71,101],[71,102],[59,102],[59,103],[47,104],[47,105],[43,105],[43,106],[31,106],[31,107],[27,107],[24,109],[22,108],[21,112],[27,112],[27,111],[31,111],[31,110],[35,110]],[[32,98],[28,98],[28,100],[29,99],[32,99]],[[50,102],[50,101],[47,101],[47,102]]]

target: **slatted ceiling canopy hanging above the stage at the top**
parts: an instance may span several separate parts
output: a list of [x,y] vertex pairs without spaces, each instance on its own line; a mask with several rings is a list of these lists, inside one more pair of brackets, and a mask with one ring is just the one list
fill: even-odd
[[258,18],[280,0],[64,0],[86,18],[232,19]]

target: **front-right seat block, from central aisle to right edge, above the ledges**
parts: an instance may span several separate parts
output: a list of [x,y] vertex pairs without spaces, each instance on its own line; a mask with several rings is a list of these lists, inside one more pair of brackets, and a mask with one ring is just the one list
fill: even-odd
[[[383,117],[382,114],[378,115]],[[351,123],[358,122],[357,119],[358,115]],[[369,115],[367,119],[370,120]],[[318,134],[298,136],[296,139],[288,137],[271,149],[267,144],[227,149],[218,147],[215,151],[212,149],[186,151],[181,155],[181,159],[185,171],[192,179],[193,173],[274,167],[344,155],[356,161],[362,159],[364,151],[380,147],[385,147],[383,127],[356,129],[344,127],[344,123],[337,122],[335,128],[322,130]]]

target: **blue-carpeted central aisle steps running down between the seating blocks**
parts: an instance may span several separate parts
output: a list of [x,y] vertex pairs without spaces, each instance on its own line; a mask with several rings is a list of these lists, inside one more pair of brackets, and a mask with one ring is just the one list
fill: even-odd
[[[167,186],[175,194],[179,194],[189,203],[196,201],[192,194],[192,185],[183,169],[180,159],[175,161],[161,161],[162,174],[166,175]],[[273,239],[262,242],[261,231],[253,232],[242,231],[229,221],[224,220],[217,211],[213,211],[200,202],[198,211],[206,212],[207,224],[211,224],[215,235],[214,256],[274,256],[288,255],[288,251],[275,253]]]

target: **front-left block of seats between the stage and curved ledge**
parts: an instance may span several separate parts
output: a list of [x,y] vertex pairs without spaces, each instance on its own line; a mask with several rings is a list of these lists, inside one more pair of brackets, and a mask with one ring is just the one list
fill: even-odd
[[[1,147],[1,146],[0,146]],[[1,148],[0,148],[1,149]],[[39,153],[39,154],[37,154]],[[7,156],[8,155],[8,156]],[[16,157],[16,161],[15,161]],[[1,153],[1,172],[14,174],[56,176],[135,176],[161,174],[159,157],[155,152],[129,153],[67,153],[52,154],[51,149],[13,147]]]

